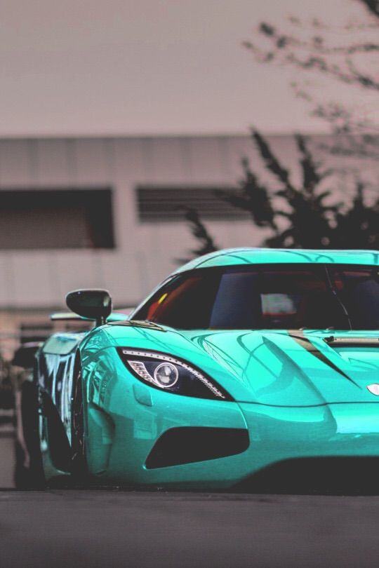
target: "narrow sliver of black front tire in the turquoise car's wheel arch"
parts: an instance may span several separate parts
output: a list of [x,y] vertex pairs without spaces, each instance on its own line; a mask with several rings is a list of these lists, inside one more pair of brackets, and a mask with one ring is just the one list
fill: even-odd
[[83,484],[88,481],[86,441],[84,435],[83,385],[78,365],[72,385],[72,479]]

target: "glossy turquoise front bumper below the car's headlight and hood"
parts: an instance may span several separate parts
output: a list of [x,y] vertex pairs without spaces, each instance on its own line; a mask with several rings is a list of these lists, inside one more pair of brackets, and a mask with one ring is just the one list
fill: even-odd
[[[105,481],[218,489],[291,459],[379,457],[378,403],[274,407],[173,395],[142,384],[112,353],[102,356],[102,365],[106,357],[107,365],[93,367],[85,380],[84,413],[89,471]],[[247,449],[149,468],[157,441],[175,428],[244,430]]]

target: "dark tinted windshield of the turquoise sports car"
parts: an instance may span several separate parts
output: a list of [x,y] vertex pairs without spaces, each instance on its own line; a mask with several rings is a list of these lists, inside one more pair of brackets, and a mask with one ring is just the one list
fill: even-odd
[[174,276],[133,319],[187,330],[377,330],[378,266],[197,269]]

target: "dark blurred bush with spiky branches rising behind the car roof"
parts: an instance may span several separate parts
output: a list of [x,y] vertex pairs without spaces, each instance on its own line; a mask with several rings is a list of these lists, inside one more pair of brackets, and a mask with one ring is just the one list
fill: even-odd
[[[333,171],[322,170],[321,164],[315,161],[307,137],[295,136],[302,173],[298,186],[293,184],[289,170],[258,130],[252,131],[252,139],[275,184],[261,182],[244,158],[244,177],[239,190],[218,191],[217,195],[247,211],[255,226],[271,230],[263,245],[271,248],[379,248],[379,200],[367,205],[363,184],[357,184],[352,203],[332,201],[332,191],[324,182]],[[187,210],[186,218],[192,225],[192,234],[201,243],[191,251],[192,255],[217,250],[197,212]]]

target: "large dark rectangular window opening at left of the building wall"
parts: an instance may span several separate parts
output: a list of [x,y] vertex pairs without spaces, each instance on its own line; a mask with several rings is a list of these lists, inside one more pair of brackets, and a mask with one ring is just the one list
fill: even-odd
[[112,189],[0,191],[0,249],[114,248]]

